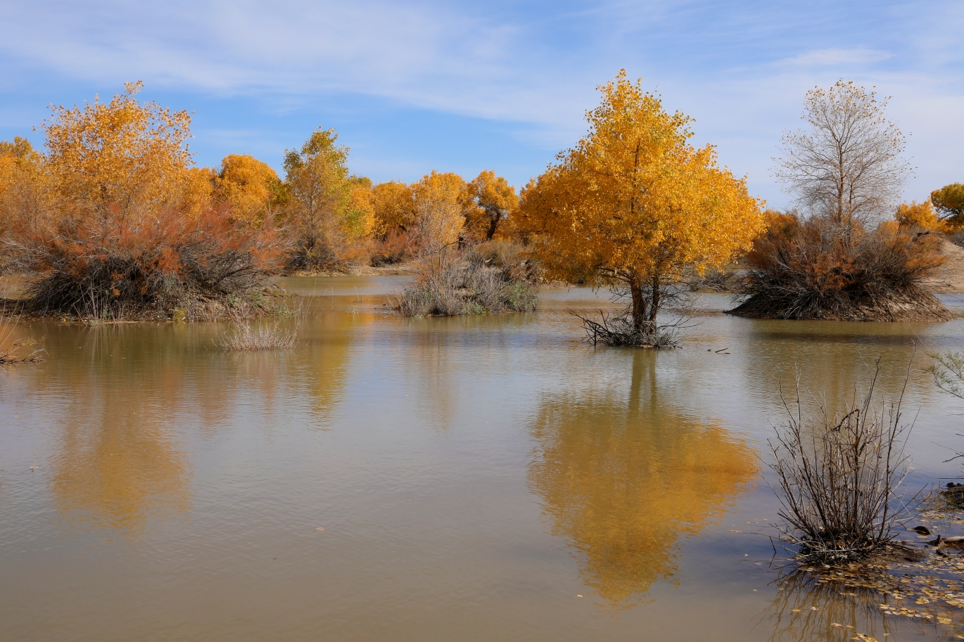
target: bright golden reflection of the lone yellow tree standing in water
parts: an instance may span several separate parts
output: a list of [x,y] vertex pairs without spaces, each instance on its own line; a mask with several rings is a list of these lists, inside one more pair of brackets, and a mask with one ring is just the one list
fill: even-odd
[[532,427],[530,487],[582,581],[616,610],[676,577],[681,540],[718,522],[755,473],[745,442],[662,402],[654,357],[633,357],[629,395],[551,396]]

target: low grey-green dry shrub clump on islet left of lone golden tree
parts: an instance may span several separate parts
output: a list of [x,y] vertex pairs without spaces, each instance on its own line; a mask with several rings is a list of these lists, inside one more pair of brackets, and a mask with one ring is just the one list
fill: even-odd
[[421,260],[415,284],[398,296],[395,308],[404,316],[535,311],[539,298],[529,269],[492,263],[473,249],[455,260]]

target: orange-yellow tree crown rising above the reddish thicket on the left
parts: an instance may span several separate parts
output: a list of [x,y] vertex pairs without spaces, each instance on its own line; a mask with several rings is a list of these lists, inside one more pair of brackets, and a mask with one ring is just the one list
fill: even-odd
[[78,214],[120,218],[181,197],[188,168],[191,117],[156,102],[139,102],[143,83],[126,83],[108,103],[53,108],[40,128],[45,163],[62,207]]

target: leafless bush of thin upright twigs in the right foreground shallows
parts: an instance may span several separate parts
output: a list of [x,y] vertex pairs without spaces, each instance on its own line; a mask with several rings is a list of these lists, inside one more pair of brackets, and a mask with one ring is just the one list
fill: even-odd
[[[781,541],[803,562],[837,564],[860,560],[885,548],[901,510],[897,487],[907,472],[903,443],[911,426],[901,423],[897,401],[876,407],[875,364],[870,388],[854,390],[843,412],[830,413],[814,399],[817,412],[804,412],[797,373],[793,395],[780,396],[787,422],[767,441],[782,505]],[[906,380],[904,381],[906,388]]]

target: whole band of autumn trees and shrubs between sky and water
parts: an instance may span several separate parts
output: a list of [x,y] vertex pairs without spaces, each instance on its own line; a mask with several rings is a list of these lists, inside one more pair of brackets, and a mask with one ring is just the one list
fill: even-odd
[[[519,194],[489,170],[373,184],[350,172],[349,148],[325,128],[285,151],[283,176],[248,154],[196,167],[190,116],[140,101],[141,89],[53,107],[42,150],[0,143],[0,260],[31,275],[38,312],[256,312],[262,298],[249,295],[270,275],[412,259],[423,281],[465,290],[465,279],[438,276],[456,274],[453,256],[500,241],[520,249],[510,262],[529,262],[502,265],[502,281],[531,279],[538,263],[544,280],[612,288],[625,311],[587,327],[604,342],[655,345],[684,272],[745,260],[744,312],[847,318],[886,307],[939,264],[920,231],[964,224],[964,187],[953,184],[880,225],[911,171],[904,139],[886,101],[844,81],[808,93],[807,128],[782,141],[777,175],[798,208],[788,212],[751,196],[714,147],[693,147],[693,120],[625,71],[599,88],[588,133]],[[485,270],[473,274],[481,282]]]

